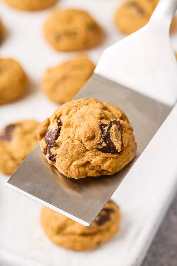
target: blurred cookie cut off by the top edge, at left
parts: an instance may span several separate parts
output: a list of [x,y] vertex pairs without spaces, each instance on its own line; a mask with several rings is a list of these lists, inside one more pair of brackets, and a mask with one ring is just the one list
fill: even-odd
[[38,11],[52,6],[57,0],[4,0],[8,5],[25,11]]

